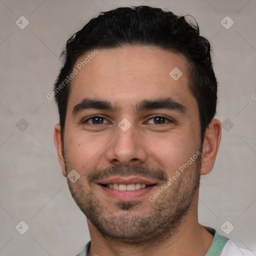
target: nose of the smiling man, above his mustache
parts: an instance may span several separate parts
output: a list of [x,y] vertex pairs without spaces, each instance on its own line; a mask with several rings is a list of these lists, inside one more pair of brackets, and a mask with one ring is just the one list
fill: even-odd
[[133,125],[123,131],[116,126],[115,135],[109,141],[106,149],[106,159],[115,165],[129,166],[145,162],[147,157],[146,145],[139,138]]

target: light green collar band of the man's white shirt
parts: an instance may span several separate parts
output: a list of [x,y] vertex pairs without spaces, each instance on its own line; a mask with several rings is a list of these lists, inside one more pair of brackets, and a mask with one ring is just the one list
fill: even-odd
[[[227,238],[218,234],[216,230],[213,228],[210,228],[210,227],[205,227],[205,228],[207,228],[212,234],[214,234],[213,241],[205,256],[220,256],[226,244]],[[76,256],[87,256],[89,249],[90,249],[90,241],[85,245],[83,250]],[[233,255],[233,256],[236,256],[236,255]]]

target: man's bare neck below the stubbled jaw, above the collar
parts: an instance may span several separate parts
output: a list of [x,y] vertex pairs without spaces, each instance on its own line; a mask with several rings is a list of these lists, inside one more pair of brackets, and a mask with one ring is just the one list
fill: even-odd
[[200,255],[204,256],[213,240],[213,235],[197,220],[197,203],[191,203],[188,214],[169,236],[156,237],[147,244],[128,244],[113,238],[103,237],[88,221],[91,247],[88,256],[147,256],[150,255]]

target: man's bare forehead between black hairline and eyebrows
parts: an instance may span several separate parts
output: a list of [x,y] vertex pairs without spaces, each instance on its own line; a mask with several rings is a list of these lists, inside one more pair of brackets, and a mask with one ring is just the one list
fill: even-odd
[[182,101],[192,96],[188,62],[182,54],[150,46],[97,50],[96,54],[92,49],[77,59],[68,104],[87,96],[119,106],[153,97],[171,96]]

